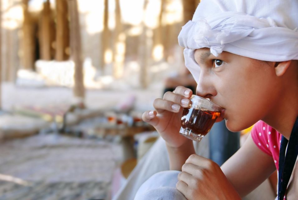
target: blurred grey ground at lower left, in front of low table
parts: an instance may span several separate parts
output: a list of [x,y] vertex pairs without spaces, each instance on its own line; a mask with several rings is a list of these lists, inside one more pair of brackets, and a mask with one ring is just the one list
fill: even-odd
[[123,159],[116,143],[37,135],[0,145],[0,199],[106,199]]

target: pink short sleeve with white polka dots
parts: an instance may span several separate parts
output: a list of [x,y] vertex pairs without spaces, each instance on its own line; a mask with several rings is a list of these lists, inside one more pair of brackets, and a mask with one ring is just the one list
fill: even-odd
[[251,135],[257,147],[273,158],[276,169],[278,170],[281,134],[265,122],[258,121],[252,128]]

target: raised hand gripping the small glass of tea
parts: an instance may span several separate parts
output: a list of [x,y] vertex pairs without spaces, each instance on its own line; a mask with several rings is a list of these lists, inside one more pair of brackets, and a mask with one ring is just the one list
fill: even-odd
[[156,110],[146,111],[142,115],[143,121],[152,125],[169,147],[179,148],[190,141],[180,135],[179,130],[182,108],[189,106],[191,95],[190,89],[178,86],[174,92],[166,92],[162,99],[154,100],[153,106]]

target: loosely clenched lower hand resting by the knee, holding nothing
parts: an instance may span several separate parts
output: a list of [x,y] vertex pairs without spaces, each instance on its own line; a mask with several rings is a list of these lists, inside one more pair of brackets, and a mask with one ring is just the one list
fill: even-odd
[[196,154],[186,160],[178,180],[176,188],[188,200],[241,199],[218,164]]

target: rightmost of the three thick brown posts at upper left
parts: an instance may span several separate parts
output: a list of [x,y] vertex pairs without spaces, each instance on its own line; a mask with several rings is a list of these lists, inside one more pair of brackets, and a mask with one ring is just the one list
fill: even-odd
[[64,61],[69,58],[66,49],[69,47],[69,22],[66,0],[56,1],[57,25],[56,25],[56,55],[57,61]]

